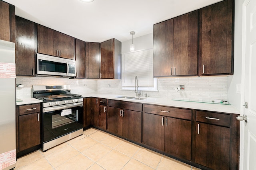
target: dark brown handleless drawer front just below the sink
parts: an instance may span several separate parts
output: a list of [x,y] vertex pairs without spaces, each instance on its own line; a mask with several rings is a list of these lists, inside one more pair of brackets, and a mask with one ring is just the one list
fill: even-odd
[[108,106],[127,109],[127,110],[142,111],[142,104],[139,104],[139,103],[124,102],[124,101],[118,101],[118,100],[108,100]]

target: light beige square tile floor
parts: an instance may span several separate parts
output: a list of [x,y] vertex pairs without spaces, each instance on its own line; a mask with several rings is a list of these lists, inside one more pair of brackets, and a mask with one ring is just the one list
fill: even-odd
[[199,170],[98,129],[18,158],[15,170]]

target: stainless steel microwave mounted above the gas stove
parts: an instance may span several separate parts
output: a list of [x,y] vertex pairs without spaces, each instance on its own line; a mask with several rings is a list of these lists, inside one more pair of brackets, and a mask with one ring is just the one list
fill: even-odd
[[76,76],[76,61],[50,55],[36,54],[38,76]]

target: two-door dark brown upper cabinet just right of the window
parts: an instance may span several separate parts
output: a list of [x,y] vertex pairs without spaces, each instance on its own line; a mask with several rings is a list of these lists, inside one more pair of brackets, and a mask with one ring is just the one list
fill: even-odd
[[154,25],[154,77],[197,75],[198,11]]

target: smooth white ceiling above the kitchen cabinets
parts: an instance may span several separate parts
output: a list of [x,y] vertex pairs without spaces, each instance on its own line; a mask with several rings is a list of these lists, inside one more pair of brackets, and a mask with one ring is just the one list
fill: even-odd
[[221,0],[4,0],[16,15],[89,42],[127,41],[153,32],[153,24]]

